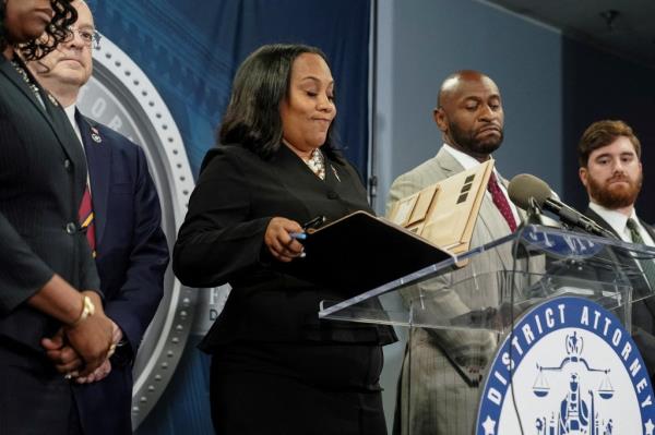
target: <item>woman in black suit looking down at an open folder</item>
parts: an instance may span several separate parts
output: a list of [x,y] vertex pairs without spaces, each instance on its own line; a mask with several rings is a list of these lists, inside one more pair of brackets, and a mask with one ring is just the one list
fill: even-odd
[[231,286],[201,343],[213,355],[217,434],[386,433],[378,380],[393,330],[319,322],[319,302],[348,289],[285,273],[303,255],[300,222],[371,212],[335,147],[335,116],[319,49],[264,46],[239,68],[219,145],[202,164],[174,269],[189,286]]

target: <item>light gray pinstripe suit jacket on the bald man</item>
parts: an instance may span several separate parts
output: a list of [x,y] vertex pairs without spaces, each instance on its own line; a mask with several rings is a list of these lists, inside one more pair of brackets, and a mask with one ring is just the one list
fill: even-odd
[[[441,149],[436,157],[394,181],[388,209],[393,202],[463,170],[450,153]],[[504,180],[501,182],[507,183]],[[480,246],[509,233],[502,215],[489,195],[485,195],[471,246]],[[410,304],[419,293],[424,293],[421,303],[432,311],[431,315],[448,317],[465,314],[472,305],[497,305],[499,291],[497,283],[492,282],[496,274],[485,274],[510,270],[513,259],[509,246],[501,246],[489,254],[473,258],[462,269],[403,290],[404,302]],[[474,276],[481,277],[483,283],[476,279],[474,286]],[[460,285],[456,292],[442,290],[443,287],[452,288],[453,283],[466,280],[471,285]],[[478,384],[497,342],[496,334],[489,331],[414,329],[401,374],[394,433],[472,434],[477,412]]]

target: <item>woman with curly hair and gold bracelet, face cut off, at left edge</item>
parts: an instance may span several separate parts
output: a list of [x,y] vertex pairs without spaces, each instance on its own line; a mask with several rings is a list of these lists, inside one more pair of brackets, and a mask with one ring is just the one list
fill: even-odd
[[[92,373],[111,342],[79,231],[81,144],[22,60],[55,49],[75,19],[68,0],[0,1],[0,434],[80,433],[64,374]],[[63,341],[75,355],[43,347]]]

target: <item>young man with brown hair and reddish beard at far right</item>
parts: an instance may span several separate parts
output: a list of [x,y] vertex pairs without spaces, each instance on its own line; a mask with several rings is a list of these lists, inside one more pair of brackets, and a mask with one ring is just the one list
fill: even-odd
[[[641,144],[622,121],[598,121],[590,125],[577,145],[580,180],[586,188],[590,205],[585,215],[617,238],[655,246],[653,227],[636,216],[634,202],[642,186]],[[631,258],[632,259],[632,258]],[[634,294],[655,286],[655,263],[634,261],[636,278],[631,279]],[[640,300],[632,305],[632,336],[646,363],[651,378],[655,374],[655,301]]]

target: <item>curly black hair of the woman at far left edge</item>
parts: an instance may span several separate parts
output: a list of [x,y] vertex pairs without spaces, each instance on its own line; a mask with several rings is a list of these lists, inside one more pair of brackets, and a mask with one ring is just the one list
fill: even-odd
[[[21,1],[21,0],[14,0]],[[50,0],[55,12],[45,35],[28,41],[11,41],[4,23],[7,4],[0,1],[0,50],[4,51],[9,44],[15,44],[25,60],[40,59],[52,51],[70,36],[69,26],[78,21],[78,11],[71,5],[72,0]]]

